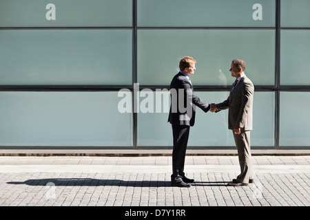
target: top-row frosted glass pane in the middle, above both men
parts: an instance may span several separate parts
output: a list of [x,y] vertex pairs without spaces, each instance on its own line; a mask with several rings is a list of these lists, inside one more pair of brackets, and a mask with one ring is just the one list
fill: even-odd
[[274,0],[137,0],[140,27],[274,27]]

